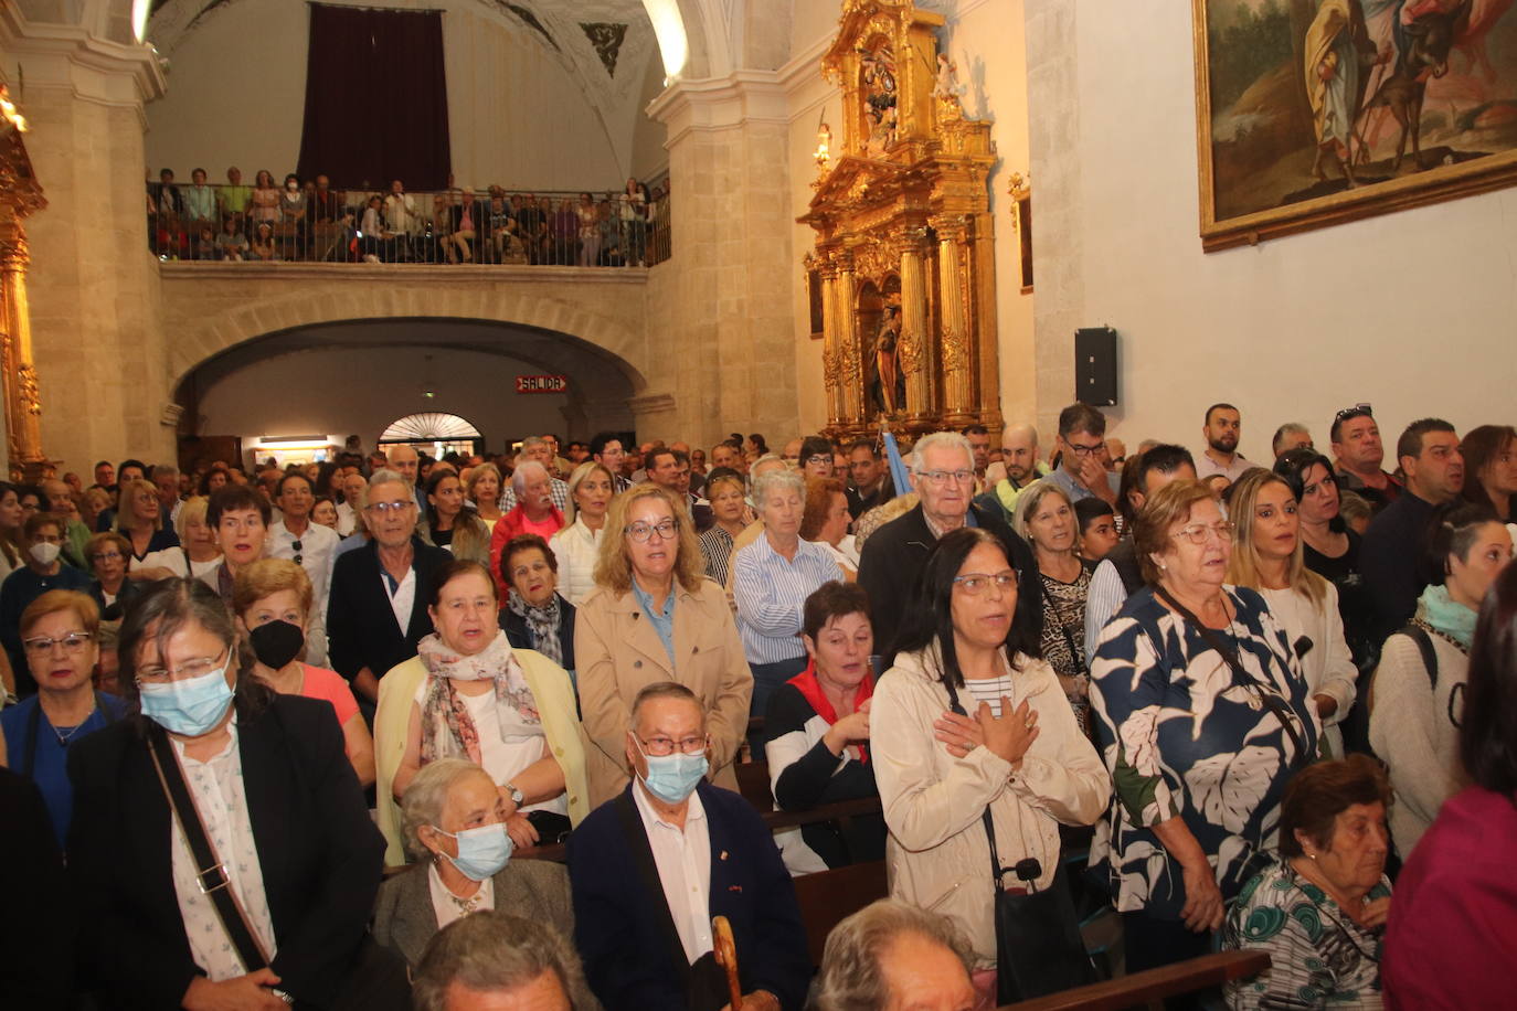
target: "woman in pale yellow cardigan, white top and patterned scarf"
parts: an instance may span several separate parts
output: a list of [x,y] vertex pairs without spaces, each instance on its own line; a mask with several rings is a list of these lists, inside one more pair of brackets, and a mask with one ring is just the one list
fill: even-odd
[[402,799],[435,758],[467,758],[499,785],[517,846],[558,841],[570,828],[570,802],[586,796],[572,778],[584,755],[569,675],[552,664],[548,678],[523,667],[496,624],[495,581],[484,565],[454,561],[434,579],[428,612],[437,632],[417,646],[426,676],[411,699],[391,791]]

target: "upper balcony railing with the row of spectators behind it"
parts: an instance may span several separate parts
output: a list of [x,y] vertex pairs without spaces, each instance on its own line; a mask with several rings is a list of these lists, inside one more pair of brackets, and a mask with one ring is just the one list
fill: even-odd
[[669,259],[669,199],[623,194],[296,192],[150,183],[162,261],[651,267]]

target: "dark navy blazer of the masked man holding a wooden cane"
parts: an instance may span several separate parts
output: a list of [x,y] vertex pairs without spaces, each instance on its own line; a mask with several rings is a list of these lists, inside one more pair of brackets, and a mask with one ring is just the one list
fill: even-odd
[[[602,803],[569,837],[575,946],[590,990],[607,1011],[702,1008],[727,1003],[711,958],[692,966],[658,884],[652,847],[633,790]],[[812,978],[795,885],[774,835],[742,796],[696,787],[711,835],[710,914],[725,916],[737,943],[743,993],[768,990],[799,1011]],[[705,972],[702,972],[705,970]]]

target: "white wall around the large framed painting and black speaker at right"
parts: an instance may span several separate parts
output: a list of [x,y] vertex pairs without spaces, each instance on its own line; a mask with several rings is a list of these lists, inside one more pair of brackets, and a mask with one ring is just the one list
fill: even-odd
[[[1027,6],[1045,427],[1073,390],[1071,323],[1121,335],[1110,417],[1129,447],[1201,449],[1214,400],[1241,408],[1256,461],[1286,420],[1326,447],[1359,400],[1388,443],[1427,414],[1514,420],[1517,189],[1201,253],[1191,5]],[[1041,165],[1071,162],[1039,188]]]

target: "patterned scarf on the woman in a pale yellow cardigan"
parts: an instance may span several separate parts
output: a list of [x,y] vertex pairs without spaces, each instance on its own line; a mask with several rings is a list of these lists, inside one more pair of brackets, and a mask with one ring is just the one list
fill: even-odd
[[[434,632],[417,644],[426,673],[426,694],[422,700],[422,761],[466,755],[475,765],[484,765],[479,731],[455,681],[493,681],[495,705],[501,711],[501,740],[513,723],[542,723],[537,700],[526,684],[522,665],[504,632],[496,632],[490,644],[473,656],[461,656]],[[514,712],[516,720],[508,720]]]

